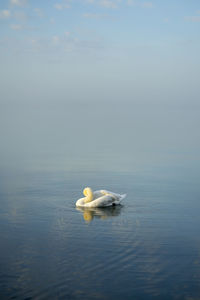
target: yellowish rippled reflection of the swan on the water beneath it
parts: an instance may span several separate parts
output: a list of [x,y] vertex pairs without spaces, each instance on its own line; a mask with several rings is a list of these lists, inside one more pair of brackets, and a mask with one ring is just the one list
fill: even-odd
[[77,207],[77,210],[83,213],[83,218],[85,221],[90,222],[94,217],[105,220],[110,217],[119,216],[121,213],[122,206],[109,206],[104,208],[84,208]]

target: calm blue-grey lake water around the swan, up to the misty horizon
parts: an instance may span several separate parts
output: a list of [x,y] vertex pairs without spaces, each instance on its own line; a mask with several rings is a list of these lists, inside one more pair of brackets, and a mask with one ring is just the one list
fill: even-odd
[[4,104],[1,299],[199,299],[199,111],[136,108]]

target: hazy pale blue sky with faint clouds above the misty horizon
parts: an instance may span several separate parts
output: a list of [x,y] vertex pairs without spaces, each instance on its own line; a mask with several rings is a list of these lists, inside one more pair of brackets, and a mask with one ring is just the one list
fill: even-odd
[[1,0],[1,99],[196,98],[199,32],[198,0]]

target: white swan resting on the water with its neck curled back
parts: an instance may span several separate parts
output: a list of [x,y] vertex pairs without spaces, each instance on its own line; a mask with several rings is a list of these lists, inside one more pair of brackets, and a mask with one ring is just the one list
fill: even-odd
[[87,187],[83,190],[84,198],[76,202],[79,207],[107,207],[120,204],[121,200],[126,197],[126,194],[120,195],[106,190],[93,192]]

